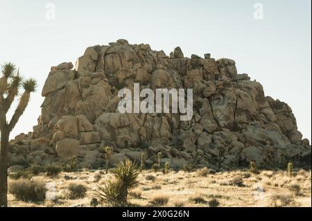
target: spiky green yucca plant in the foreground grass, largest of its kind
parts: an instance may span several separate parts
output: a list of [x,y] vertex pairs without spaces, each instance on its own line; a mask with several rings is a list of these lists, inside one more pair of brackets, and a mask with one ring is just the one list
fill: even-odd
[[126,159],[124,163],[121,161],[111,173],[114,180],[108,180],[103,186],[98,185],[96,195],[101,200],[123,204],[127,202],[128,191],[137,186],[137,177],[141,173],[141,168],[137,163]]

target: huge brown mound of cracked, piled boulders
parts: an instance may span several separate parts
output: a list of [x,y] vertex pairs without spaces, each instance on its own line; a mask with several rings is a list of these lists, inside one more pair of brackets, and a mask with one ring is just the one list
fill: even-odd
[[[138,152],[155,162],[162,152],[173,167],[191,162],[217,169],[249,161],[281,166],[311,153],[286,103],[266,97],[259,82],[237,73],[234,60],[204,57],[184,58],[180,47],[169,57],[119,39],[87,48],[74,69],[67,62],[52,67],[38,125],[12,141],[12,162],[21,161],[21,154],[30,163],[77,156],[81,167],[96,168],[105,163],[104,145],[112,146],[114,163],[139,160]],[[193,89],[193,118],[119,113],[117,93],[132,90],[134,82],[140,89]],[[33,141],[39,142],[35,153],[25,148]]]

